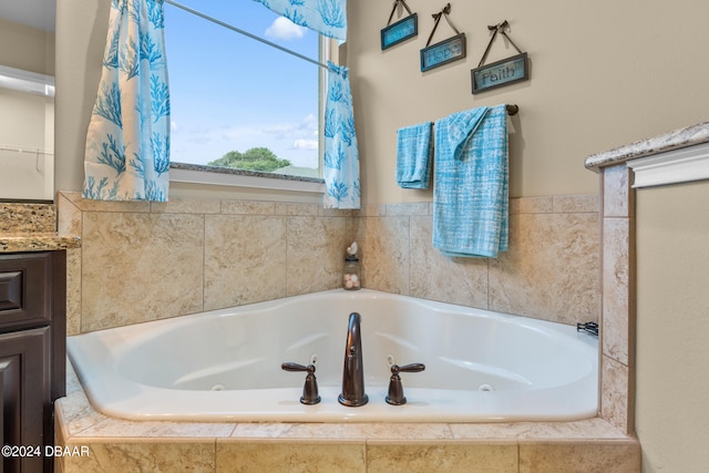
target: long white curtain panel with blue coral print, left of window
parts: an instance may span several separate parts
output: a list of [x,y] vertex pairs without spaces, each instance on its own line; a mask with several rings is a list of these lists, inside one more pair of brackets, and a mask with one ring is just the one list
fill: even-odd
[[163,0],[112,0],[86,134],[84,198],[167,200],[169,91]]

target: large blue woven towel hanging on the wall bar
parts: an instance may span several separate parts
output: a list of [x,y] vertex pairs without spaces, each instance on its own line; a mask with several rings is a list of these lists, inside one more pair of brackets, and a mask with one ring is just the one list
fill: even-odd
[[446,256],[496,258],[507,249],[505,105],[435,122],[433,247]]

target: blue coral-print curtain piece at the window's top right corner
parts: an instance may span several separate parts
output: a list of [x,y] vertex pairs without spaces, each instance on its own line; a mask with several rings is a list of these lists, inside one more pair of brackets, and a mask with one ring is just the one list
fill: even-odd
[[254,0],[328,38],[347,39],[347,0]]

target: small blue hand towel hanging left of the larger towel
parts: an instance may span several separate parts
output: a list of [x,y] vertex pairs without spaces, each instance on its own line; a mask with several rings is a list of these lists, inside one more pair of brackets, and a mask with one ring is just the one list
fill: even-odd
[[431,182],[431,128],[425,122],[397,131],[397,184],[403,188],[428,189]]

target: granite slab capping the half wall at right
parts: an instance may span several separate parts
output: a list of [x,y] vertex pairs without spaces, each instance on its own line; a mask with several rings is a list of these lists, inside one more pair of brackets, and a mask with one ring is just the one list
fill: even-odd
[[702,122],[669,133],[630,143],[603,153],[592,154],[586,158],[586,168],[598,172],[600,167],[625,163],[636,157],[648,156],[665,151],[693,146],[709,142],[709,122]]

